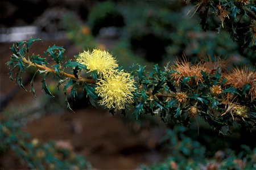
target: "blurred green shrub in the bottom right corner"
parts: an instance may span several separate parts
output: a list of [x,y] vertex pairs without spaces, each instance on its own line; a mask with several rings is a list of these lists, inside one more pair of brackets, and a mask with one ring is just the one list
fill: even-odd
[[[185,128],[176,126],[168,129],[159,143],[166,146],[167,159],[142,169],[253,169],[255,168],[256,148],[241,145],[241,151],[229,148],[217,150],[212,158],[205,155],[205,147],[185,134]],[[216,148],[217,149],[217,148]]]

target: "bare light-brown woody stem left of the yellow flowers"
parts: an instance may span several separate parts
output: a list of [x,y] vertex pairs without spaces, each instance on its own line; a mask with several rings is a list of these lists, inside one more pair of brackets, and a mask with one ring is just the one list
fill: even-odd
[[[51,72],[51,73],[56,74],[56,71],[55,71],[55,70],[50,69],[49,67],[46,67],[46,66],[38,65],[38,64],[36,64],[36,63],[32,63],[31,61],[28,61],[26,58],[23,58],[23,62],[24,62],[24,63],[27,63],[27,64],[30,65],[30,66],[38,67],[39,69],[43,69],[43,70],[46,70],[46,71],[48,71],[48,72]],[[66,76],[66,77],[71,78],[71,79],[81,80],[81,81],[83,81],[83,82],[96,84],[96,82],[95,82],[93,79],[86,79],[86,78],[83,78],[83,77],[81,77],[81,76],[79,76],[78,79],[77,79],[77,78],[75,77],[75,75],[68,74],[68,73],[61,73],[61,75]]]

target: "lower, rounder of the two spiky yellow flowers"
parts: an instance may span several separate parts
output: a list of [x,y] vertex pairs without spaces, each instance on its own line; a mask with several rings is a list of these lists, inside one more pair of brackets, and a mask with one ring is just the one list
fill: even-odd
[[125,105],[133,103],[133,94],[135,91],[134,79],[129,73],[121,71],[109,71],[104,74],[98,83],[95,91],[102,97],[101,105],[108,109],[125,109]]

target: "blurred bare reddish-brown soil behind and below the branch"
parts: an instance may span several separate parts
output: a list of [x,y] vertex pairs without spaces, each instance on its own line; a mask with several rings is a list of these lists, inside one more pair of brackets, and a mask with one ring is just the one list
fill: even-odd
[[[66,41],[36,42],[32,52],[43,54],[49,45],[56,44],[67,49],[67,56],[77,54],[73,45]],[[1,44],[0,67],[0,97],[1,101],[18,85],[11,82],[5,63],[9,60],[11,44]],[[24,74],[26,75],[26,73]],[[36,95],[20,88],[2,112],[22,107],[24,103],[40,103],[44,95],[41,90],[40,79],[35,82]],[[28,90],[30,84],[26,87]],[[63,99],[60,99],[63,100]],[[65,143],[77,154],[82,154],[96,169],[135,169],[141,163],[159,162],[162,156],[156,150],[157,141],[163,135],[158,128],[140,129],[136,124],[123,122],[120,114],[112,116],[101,109],[82,108],[75,113],[65,110],[61,115],[47,113],[34,121],[28,122],[23,128],[32,138],[42,142],[56,141]],[[26,167],[26,166],[25,166]],[[23,169],[24,165],[18,163],[14,153],[7,151],[0,155],[0,169]]]

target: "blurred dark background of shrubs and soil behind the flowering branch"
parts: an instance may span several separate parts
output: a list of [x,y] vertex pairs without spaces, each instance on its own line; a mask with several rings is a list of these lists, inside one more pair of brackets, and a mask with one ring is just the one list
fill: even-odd
[[[85,156],[96,169],[175,169],[198,165],[204,169],[214,167],[215,163],[224,164],[224,160],[227,167],[242,168],[242,158],[256,159],[252,138],[255,131],[237,128],[225,136],[203,124],[200,117],[196,120],[198,124],[195,121],[184,128],[164,124],[157,116],[142,115],[139,120],[129,113],[126,118],[121,113],[112,116],[103,108],[88,105],[82,91],[76,99],[69,99],[73,113],[67,109],[63,92],[57,90],[54,81],[47,82],[55,96],[51,98],[42,92],[40,78],[35,78],[34,98],[9,79],[5,63],[11,56],[10,46],[31,37],[43,40],[32,45],[31,54],[43,56],[48,46],[54,44],[66,49],[67,59],[82,50],[105,49],[127,71],[137,63],[146,65],[148,70],[155,63],[165,66],[182,56],[191,62],[227,59],[230,68],[255,64],[253,54],[232,41],[225,29],[217,35],[217,16],[209,17],[209,30],[204,32],[197,14],[192,18],[187,15],[191,7],[186,1],[175,0],[2,0],[1,121],[18,122],[21,131],[31,134],[31,138],[54,141]],[[23,83],[28,91],[33,71],[28,69],[24,74]],[[27,163],[17,164],[18,158],[10,149],[0,148],[0,168],[29,167]]]

